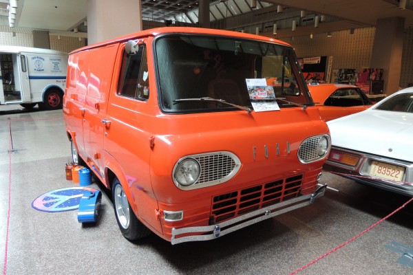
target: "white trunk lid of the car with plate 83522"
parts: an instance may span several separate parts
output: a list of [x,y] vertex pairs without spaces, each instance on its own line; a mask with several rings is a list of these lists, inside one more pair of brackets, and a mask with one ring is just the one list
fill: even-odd
[[413,113],[368,109],[327,124],[333,146],[413,162]]

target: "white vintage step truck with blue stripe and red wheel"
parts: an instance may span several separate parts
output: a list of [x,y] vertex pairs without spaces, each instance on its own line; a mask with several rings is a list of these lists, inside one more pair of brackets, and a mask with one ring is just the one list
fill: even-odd
[[42,109],[62,107],[67,54],[34,47],[0,45],[0,104]]

